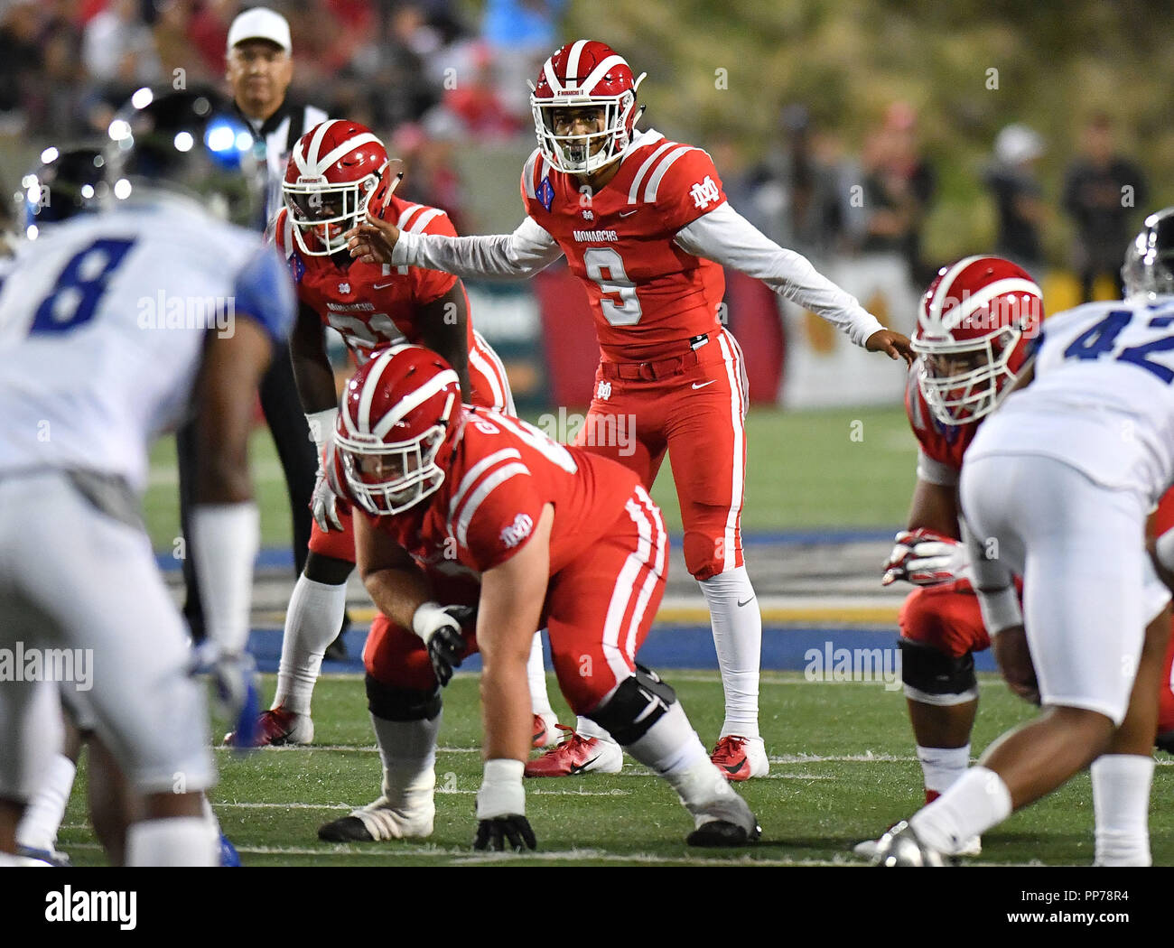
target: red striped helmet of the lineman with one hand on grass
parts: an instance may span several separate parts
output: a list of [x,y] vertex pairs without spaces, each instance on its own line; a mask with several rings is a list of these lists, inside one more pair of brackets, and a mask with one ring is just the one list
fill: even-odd
[[460,433],[460,382],[423,346],[391,346],[346,382],[335,448],[352,499],[398,514],[433,494]]

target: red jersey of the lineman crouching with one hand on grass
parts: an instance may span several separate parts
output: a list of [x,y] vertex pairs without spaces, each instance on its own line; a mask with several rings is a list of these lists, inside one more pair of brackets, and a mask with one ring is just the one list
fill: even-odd
[[[464,433],[439,489],[396,516],[366,515],[419,566],[477,575],[500,566],[526,546],[547,503],[555,509],[552,576],[616,533],[621,517],[632,529],[626,505],[639,479],[626,467],[552,441],[517,418],[467,405],[461,411]],[[337,456],[333,468],[333,486],[353,503]]]

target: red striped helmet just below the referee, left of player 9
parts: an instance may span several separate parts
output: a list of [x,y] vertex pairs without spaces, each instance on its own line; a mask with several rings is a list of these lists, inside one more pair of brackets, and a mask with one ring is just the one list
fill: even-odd
[[358,122],[331,118],[297,140],[282,196],[303,253],[329,257],[346,249],[343,233],[363,219],[386,168],[383,142]]

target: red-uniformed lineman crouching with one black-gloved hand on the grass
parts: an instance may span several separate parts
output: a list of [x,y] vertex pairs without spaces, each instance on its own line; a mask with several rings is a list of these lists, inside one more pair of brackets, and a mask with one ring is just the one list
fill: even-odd
[[[319,831],[326,840],[427,837],[440,688],[480,650],[485,776],[477,848],[535,847],[522,768],[531,746],[526,662],[548,629],[572,710],[664,777],[693,814],[695,846],[760,830],[709,760],[673,689],[635,664],[664,591],[668,535],[637,476],[518,419],[463,406],[457,373],[394,346],[348,384],[330,473],[355,519],[358,564],[383,616],[364,652],[383,795]],[[424,569],[427,567],[427,571]],[[480,578],[461,604],[432,577]]]

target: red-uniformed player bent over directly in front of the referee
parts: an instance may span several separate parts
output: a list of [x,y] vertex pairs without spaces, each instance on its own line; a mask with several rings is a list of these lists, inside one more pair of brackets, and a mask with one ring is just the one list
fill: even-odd
[[[285,206],[272,236],[297,286],[298,318],[290,337],[294,379],[319,459],[338,414],[326,326],[342,336],[358,365],[396,343],[427,346],[456,370],[465,401],[514,412],[505,368],[473,329],[468,298],[457,277],[416,266],[365,264],[352,260],[346,250],[342,233],[369,208],[413,233],[456,236],[439,208],[393,195],[399,164],[365,126],[330,120],[298,140],[286,167]],[[321,467],[312,508],[310,551],[285,614],[277,692],[259,720],[262,744],[313,740],[313,685],[346,609],[346,580],[355,569],[351,512],[337,502]],[[537,635],[528,669],[534,746],[542,747],[556,739],[558,719],[547,697]]]

